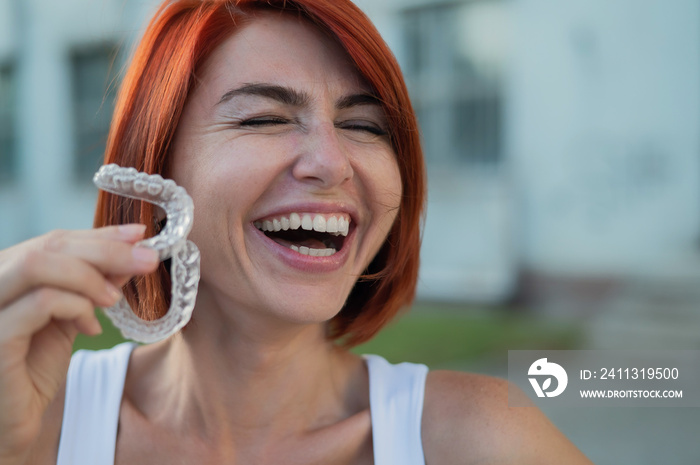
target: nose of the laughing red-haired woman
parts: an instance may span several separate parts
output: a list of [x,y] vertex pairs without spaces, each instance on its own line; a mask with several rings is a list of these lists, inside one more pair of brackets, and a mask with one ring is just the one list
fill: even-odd
[[299,181],[323,189],[339,186],[352,178],[349,154],[332,123],[319,124],[309,131],[292,174]]

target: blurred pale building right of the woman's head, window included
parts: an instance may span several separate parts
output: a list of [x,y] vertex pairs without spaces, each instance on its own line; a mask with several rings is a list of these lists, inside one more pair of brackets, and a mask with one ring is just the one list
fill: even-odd
[[700,3],[360,4],[399,57],[421,120],[423,296],[697,283]]

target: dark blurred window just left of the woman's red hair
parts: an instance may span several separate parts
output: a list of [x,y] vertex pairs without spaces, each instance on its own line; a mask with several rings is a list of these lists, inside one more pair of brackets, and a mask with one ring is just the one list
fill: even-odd
[[78,50],[71,56],[74,172],[91,180],[102,164],[107,133],[114,112],[116,48],[108,45]]

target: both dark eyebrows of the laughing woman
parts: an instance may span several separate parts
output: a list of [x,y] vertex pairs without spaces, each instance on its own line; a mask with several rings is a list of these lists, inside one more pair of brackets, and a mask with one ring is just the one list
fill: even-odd
[[[283,103],[285,105],[295,107],[302,107],[304,105],[307,105],[311,100],[309,95],[305,92],[300,92],[290,87],[284,87],[275,84],[255,83],[245,84],[237,89],[229,90],[221,96],[221,99],[219,100],[217,105],[228,102],[229,100],[235,97],[246,95],[269,98]],[[336,103],[336,108],[338,108],[339,110],[344,110],[346,108],[354,107],[357,105],[381,106],[381,101],[379,100],[379,98],[372,94],[352,94],[342,97]]]

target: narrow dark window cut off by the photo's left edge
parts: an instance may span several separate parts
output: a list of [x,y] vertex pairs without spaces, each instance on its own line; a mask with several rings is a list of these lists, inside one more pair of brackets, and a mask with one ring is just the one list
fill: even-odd
[[12,65],[0,65],[0,183],[17,174],[15,132],[15,74]]

